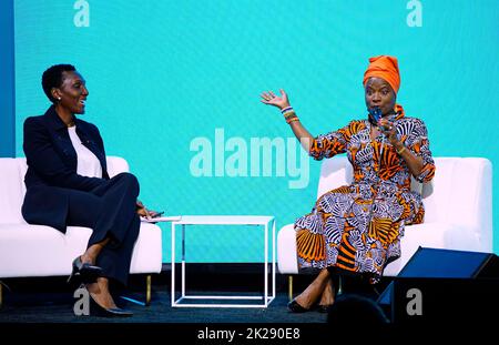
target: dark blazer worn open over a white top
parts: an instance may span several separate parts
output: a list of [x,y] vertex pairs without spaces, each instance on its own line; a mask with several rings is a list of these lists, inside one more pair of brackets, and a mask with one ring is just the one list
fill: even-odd
[[77,174],[77,152],[68,128],[53,105],[45,114],[24,121],[23,150],[28,171],[22,216],[30,224],[49,225],[65,233],[72,190],[91,191],[109,180],[104,144],[98,128],[80,119],[75,119],[75,125],[82,144],[101,162],[103,179]]

